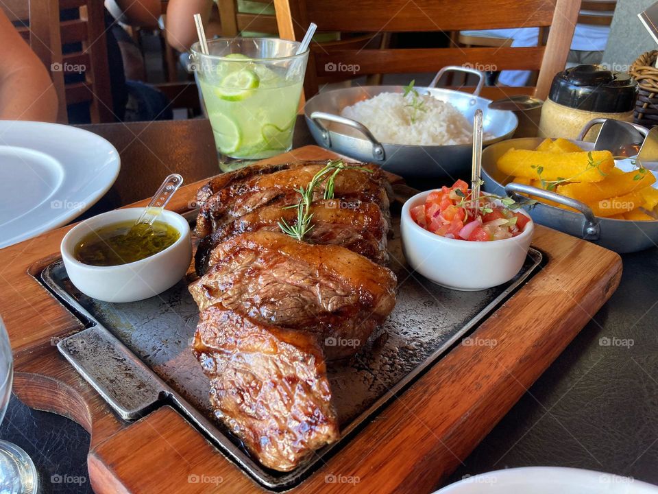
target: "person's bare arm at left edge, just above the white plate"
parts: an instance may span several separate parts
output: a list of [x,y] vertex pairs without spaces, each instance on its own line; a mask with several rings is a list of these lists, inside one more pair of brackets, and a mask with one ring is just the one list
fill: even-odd
[[46,68],[0,9],[0,120],[54,122],[57,110]]

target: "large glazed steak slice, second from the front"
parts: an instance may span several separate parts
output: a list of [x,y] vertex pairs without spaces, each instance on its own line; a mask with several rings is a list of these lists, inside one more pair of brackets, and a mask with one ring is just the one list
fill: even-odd
[[223,307],[317,336],[328,360],[356,353],[395,306],[395,274],[340,246],[243,233],[219,244],[189,287],[200,310]]

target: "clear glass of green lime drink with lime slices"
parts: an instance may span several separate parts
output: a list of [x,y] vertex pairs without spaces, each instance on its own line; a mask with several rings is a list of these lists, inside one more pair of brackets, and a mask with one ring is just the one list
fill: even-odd
[[[291,150],[308,50],[277,38],[208,40],[192,46],[192,69],[224,172]],[[236,160],[238,160],[236,162]]]

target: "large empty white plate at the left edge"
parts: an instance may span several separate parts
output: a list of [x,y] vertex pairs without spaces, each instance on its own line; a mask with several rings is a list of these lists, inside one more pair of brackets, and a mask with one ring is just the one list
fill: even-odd
[[86,130],[0,121],[0,248],[74,220],[120,167],[114,146]]

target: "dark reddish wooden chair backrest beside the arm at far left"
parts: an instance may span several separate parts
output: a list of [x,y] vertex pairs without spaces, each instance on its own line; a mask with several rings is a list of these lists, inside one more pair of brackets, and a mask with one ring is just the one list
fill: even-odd
[[[58,121],[66,106],[88,104],[93,123],[114,121],[103,2],[5,0],[0,6],[45,64],[58,92]],[[67,12],[70,20],[60,21]],[[68,47],[62,55],[62,47]]]

